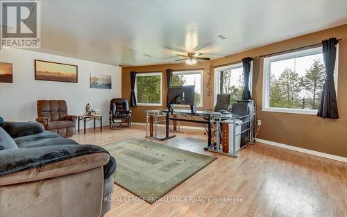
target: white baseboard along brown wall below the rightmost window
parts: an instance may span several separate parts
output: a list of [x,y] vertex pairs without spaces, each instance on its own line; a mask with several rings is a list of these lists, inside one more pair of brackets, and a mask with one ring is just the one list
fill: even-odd
[[339,161],[339,162],[345,162],[347,163],[347,157],[341,157],[341,156],[337,156],[337,155],[330,155],[330,154],[327,154],[327,153],[321,153],[319,151],[316,151],[316,150],[310,150],[310,149],[306,149],[306,148],[299,148],[299,147],[296,147],[296,146],[289,146],[289,145],[286,145],[286,144],[280,144],[278,142],[275,142],[275,141],[267,141],[267,140],[264,140],[264,139],[255,139],[255,141],[258,141],[258,142],[261,142],[263,144],[267,144],[267,145],[270,145],[270,146],[277,146],[277,147],[280,147],[280,148],[286,148],[286,149],[289,149],[289,150],[296,150],[300,153],[305,153],[305,154],[309,154],[309,155],[315,155],[315,156],[318,156],[318,157],[325,157],[325,158],[328,158],[328,159],[333,159],[333,160],[336,160],[336,161]]

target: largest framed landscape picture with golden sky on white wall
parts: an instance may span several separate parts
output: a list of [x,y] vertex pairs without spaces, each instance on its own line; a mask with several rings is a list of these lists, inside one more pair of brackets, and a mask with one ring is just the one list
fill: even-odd
[[35,80],[77,83],[77,66],[74,64],[35,60]]

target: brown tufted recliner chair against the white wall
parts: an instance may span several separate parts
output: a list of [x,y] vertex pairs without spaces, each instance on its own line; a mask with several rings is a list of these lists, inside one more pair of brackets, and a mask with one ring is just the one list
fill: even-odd
[[44,130],[56,132],[62,137],[71,137],[75,134],[76,117],[67,115],[65,101],[37,101],[37,116],[36,121],[44,126]]

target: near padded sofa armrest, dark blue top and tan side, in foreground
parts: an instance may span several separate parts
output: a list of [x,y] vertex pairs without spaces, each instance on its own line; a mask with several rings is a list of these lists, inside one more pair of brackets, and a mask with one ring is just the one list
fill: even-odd
[[80,173],[108,164],[110,155],[94,145],[44,146],[0,151],[0,186]]

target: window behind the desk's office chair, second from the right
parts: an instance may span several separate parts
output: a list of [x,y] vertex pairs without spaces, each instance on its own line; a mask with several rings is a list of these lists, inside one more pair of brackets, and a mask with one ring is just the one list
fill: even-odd
[[[252,71],[253,61],[251,62],[251,71],[249,75],[249,89],[251,95]],[[216,104],[217,101],[217,94],[230,94],[231,103],[235,103],[241,100],[243,91],[244,69],[242,67],[242,62],[214,69],[214,104]]]

